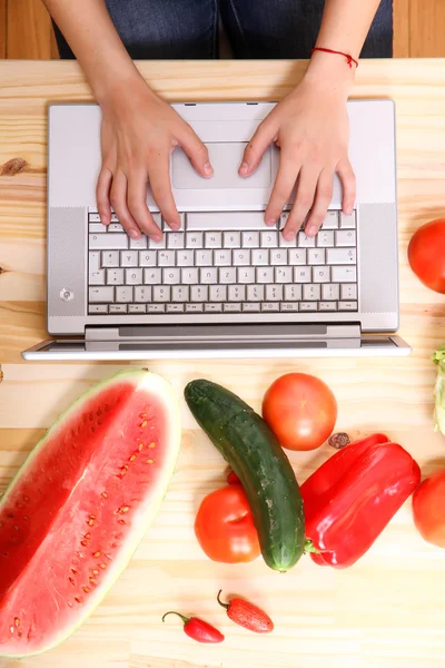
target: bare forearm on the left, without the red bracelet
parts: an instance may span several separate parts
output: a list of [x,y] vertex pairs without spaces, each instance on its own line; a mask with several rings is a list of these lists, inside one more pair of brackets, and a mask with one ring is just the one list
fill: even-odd
[[137,78],[103,0],[43,0],[78,59],[99,102]]

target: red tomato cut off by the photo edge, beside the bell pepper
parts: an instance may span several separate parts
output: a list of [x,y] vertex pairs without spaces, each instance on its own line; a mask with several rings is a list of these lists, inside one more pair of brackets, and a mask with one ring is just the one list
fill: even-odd
[[424,480],[413,495],[414,523],[433,546],[445,548],[445,470]]

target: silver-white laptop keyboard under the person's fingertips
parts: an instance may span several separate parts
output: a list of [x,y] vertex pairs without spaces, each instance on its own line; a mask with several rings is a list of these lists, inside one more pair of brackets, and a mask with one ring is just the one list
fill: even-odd
[[90,314],[357,311],[356,213],[329,210],[316,237],[287,242],[264,212],[180,214],[156,244],[131,239],[116,215],[89,212]]

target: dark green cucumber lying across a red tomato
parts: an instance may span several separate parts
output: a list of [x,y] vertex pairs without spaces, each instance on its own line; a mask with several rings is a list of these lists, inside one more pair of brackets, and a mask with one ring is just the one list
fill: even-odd
[[294,470],[266,422],[233,392],[192,381],[186,402],[240,479],[267,566],[287,571],[305,551],[303,500]]

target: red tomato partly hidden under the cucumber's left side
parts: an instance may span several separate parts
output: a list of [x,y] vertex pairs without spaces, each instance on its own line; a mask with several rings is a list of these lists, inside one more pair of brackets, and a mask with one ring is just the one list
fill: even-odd
[[207,557],[214,561],[253,561],[261,552],[247,497],[237,483],[202,499],[195,520],[195,533]]

